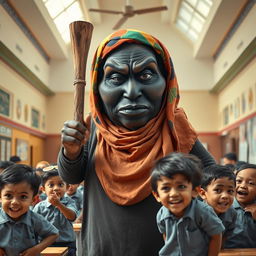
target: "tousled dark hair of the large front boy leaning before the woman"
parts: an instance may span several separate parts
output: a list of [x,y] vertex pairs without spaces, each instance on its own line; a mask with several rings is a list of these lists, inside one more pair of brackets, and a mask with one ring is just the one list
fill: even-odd
[[157,181],[162,176],[172,178],[175,174],[184,175],[195,188],[201,184],[202,163],[195,155],[184,153],[171,153],[159,159],[151,173],[152,190],[157,192]]

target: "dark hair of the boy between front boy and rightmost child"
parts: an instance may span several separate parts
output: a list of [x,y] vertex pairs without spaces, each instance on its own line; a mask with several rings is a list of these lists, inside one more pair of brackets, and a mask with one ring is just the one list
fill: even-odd
[[201,187],[206,190],[213,180],[217,180],[223,177],[227,177],[234,181],[236,184],[236,176],[232,170],[227,165],[213,164],[204,168]]

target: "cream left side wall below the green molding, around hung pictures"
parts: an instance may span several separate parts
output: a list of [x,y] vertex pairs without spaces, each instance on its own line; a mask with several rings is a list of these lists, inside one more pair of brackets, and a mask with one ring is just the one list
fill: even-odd
[[[46,127],[43,128],[42,118],[46,116],[47,98],[41,94],[38,90],[32,87],[26,80],[20,75],[14,72],[4,62],[0,61],[0,87],[10,93],[12,98],[12,111],[11,119],[22,125],[31,126],[31,108],[34,107],[40,112],[40,130],[46,132]],[[17,100],[21,101],[21,117],[17,116]],[[28,106],[28,120],[25,120],[24,108]]]

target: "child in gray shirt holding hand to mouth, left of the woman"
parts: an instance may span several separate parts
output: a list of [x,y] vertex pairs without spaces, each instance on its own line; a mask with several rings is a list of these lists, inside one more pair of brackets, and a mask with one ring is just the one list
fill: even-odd
[[[47,168],[47,169],[46,169]],[[64,197],[67,186],[60,178],[56,165],[44,168],[42,190],[47,199],[35,205],[33,211],[44,216],[59,229],[59,238],[52,246],[69,247],[68,255],[76,255],[75,233],[72,222],[77,209],[74,200]]]

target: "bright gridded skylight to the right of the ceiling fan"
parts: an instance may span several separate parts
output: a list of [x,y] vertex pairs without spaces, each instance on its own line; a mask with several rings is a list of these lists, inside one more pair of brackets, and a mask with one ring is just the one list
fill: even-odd
[[177,27],[196,41],[210,12],[212,0],[182,0],[176,18]]

